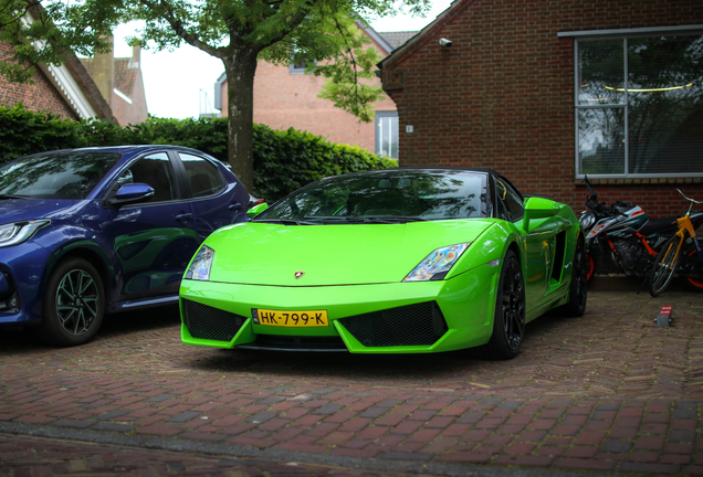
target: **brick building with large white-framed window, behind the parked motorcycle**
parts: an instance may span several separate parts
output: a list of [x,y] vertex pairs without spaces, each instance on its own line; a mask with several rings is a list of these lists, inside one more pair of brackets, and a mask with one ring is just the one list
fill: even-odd
[[585,174],[654,218],[703,199],[700,0],[455,0],[379,66],[401,167],[490,167],[577,212]]

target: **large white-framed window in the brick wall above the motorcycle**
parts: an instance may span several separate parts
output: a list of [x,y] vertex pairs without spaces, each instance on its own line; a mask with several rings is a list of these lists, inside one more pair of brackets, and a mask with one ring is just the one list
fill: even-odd
[[703,176],[703,34],[578,39],[576,63],[577,177]]

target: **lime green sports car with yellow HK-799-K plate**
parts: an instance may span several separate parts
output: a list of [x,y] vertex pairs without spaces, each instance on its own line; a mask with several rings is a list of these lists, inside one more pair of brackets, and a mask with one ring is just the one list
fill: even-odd
[[[265,206],[262,204],[261,206]],[[181,339],[214,348],[517,354],[525,324],[586,308],[568,205],[489,169],[313,182],[212,233],[180,287]]]

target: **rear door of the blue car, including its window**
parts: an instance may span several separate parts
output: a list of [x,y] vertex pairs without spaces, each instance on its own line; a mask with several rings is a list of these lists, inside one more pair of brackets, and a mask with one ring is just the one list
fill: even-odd
[[239,182],[228,181],[218,166],[204,157],[183,151],[176,153],[186,172],[195,213],[193,226],[201,240],[221,226],[246,220],[249,192]]

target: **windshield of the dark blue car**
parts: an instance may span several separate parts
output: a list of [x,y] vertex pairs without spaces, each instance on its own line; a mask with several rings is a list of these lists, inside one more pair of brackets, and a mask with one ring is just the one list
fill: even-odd
[[41,199],[85,199],[120,155],[99,151],[48,152],[0,168],[0,194]]

